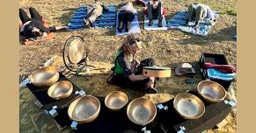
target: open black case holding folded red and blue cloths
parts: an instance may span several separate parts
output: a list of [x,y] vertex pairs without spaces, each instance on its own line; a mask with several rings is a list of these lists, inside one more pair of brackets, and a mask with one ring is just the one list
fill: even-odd
[[[199,60],[199,66],[201,71],[202,80],[209,79],[207,74],[207,68],[203,66],[204,63],[212,63],[217,65],[228,65],[228,61],[223,54],[216,54],[216,53],[202,53],[201,58]],[[232,81],[223,81],[223,80],[216,80],[216,79],[209,79],[210,81],[216,81],[217,83],[221,84],[223,88],[228,90],[230,88],[230,84]]]

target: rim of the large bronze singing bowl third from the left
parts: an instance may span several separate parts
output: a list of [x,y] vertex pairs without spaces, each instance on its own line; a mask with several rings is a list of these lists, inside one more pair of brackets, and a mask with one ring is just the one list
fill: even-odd
[[[99,108],[96,110],[96,112],[95,112],[92,116],[89,116],[89,117],[87,117],[87,118],[85,118],[85,119],[79,119],[79,120],[78,120],[78,119],[74,119],[74,118],[72,117],[72,114],[70,115],[69,112],[70,112],[70,111],[73,112],[74,108],[76,107],[76,106],[73,105],[73,104],[76,103],[76,105],[77,105],[77,102],[80,102],[80,100],[83,99],[84,97],[90,97],[90,98],[93,98],[94,100],[96,100],[96,101],[99,103]],[[74,108],[73,108],[72,110],[70,109],[71,106],[74,106]],[[99,115],[99,111],[100,111],[100,102],[99,102],[99,99],[98,99],[97,97],[95,97],[95,96],[92,96],[92,95],[84,95],[84,96],[78,97],[76,100],[74,100],[73,102],[71,102],[71,103],[69,104],[68,116],[69,116],[69,118],[72,119],[73,121],[76,121],[76,122],[78,122],[78,123],[81,123],[81,122],[84,122],[84,121],[86,121],[86,120],[90,120],[90,119],[93,118],[94,116],[95,116],[94,119],[96,119],[97,116]],[[71,113],[72,113],[72,112],[71,112]],[[94,120],[94,119],[93,119],[93,120]]]

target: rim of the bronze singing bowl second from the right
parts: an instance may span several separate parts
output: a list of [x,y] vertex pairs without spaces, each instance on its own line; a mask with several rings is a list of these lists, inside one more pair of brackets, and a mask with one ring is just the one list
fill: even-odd
[[[198,116],[193,116],[193,117],[188,117],[188,116],[185,116],[185,115],[181,114],[181,113],[179,112],[179,110],[177,109],[177,105],[175,104],[176,101],[178,101],[177,99],[179,98],[180,95],[191,95],[191,96],[193,96],[194,99],[196,99],[197,101],[201,102],[201,105],[202,105],[202,108],[203,108],[201,114],[198,115]],[[201,99],[200,99],[199,97],[197,97],[196,95],[192,95],[192,94],[189,94],[189,93],[181,93],[181,94],[179,94],[179,95],[176,95],[176,96],[174,97],[174,100],[173,100],[173,108],[176,110],[176,112],[178,112],[178,114],[179,114],[180,116],[182,116],[182,117],[184,117],[184,118],[186,118],[186,119],[191,119],[191,120],[200,118],[200,117],[204,114],[204,112],[205,112],[205,105],[204,105],[204,103],[201,101]]]

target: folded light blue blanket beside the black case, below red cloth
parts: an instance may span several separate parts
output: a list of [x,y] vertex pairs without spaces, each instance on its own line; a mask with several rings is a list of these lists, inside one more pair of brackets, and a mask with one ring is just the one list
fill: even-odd
[[222,73],[214,68],[207,69],[209,79],[217,79],[223,81],[232,81],[236,77],[236,73]]

